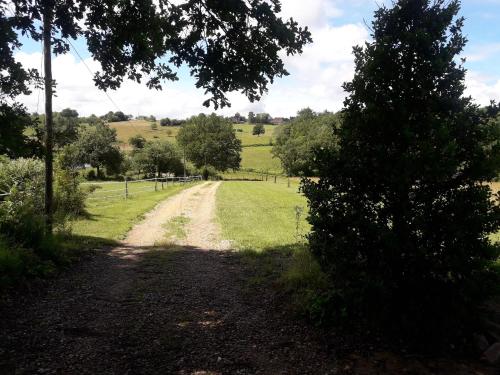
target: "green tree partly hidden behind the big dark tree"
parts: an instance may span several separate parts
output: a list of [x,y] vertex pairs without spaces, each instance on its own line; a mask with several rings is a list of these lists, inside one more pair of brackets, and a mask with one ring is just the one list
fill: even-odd
[[303,109],[293,121],[276,130],[272,153],[288,175],[314,176],[318,173],[315,150],[336,148],[334,131],[338,124],[338,116],[333,113]]

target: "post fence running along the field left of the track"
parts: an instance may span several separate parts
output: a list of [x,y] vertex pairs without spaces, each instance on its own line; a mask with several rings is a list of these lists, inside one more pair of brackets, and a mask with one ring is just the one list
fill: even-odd
[[[82,186],[89,186],[92,191],[88,200],[106,200],[112,198],[129,199],[132,196],[154,191],[161,191],[170,185],[184,184],[188,182],[201,181],[201,176],[188,177],[155,177],[142,180],[128,180],[116,182],[86,182]],[[116,186],[116,188],[115,188]]]

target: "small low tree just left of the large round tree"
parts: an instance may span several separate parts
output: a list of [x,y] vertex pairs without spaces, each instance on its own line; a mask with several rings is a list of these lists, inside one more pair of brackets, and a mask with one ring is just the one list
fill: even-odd
[[178,148],[167,141],[147,142],[142,150],[134,155],[134,164],[140,171],[151,174],[180,174],[183,165]]

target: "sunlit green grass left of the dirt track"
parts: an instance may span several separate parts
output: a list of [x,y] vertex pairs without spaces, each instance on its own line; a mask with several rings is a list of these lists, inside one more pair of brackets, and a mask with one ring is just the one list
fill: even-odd
[[[161,184],[158,184],[159,190],[155,192],[154,182],[131,183],[129,184],[129,199],[125,200],[123,195],[104,198],[114,194],[123,194],[122,191],[112,191],[123,188],[123,184],[103,184],[101,189],[92,193],[86,204],[88,217],[73,221],[73,233],[108,240],[122,239],[132,226],[157,203],[192,186],[192,184],[176,184],[164,186],[164,190],[161,190]],[[140,189],[147,190],[140,191]]]

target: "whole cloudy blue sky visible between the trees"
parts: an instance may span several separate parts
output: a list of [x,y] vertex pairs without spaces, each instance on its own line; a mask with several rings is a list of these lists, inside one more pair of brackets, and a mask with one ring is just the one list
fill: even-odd
[[[229,93],[232,106],[218,111],[202,105],[206,99],[203,90],[195,88],[186,68],[178,72],[179,81],[165,82],[161,91],[125,81],[120,89],[108,91],[110,99],[94,87],[85,65],[91,71],[99,65],[90,57],[85,41],[77,40],[74,46],[85,64],[74,49],[55,57],[52,63],[57,82],[54,110],[70,107],[83,116],[121,110],[157,118],[186,118],[202,112],[246,115],[249,111],[289,117],[306,107],[338,111],[345,98],[341,85],[354,74],[352,47],[369,40],[366,25],[371,23],[377,4],[384,2],[390,0],[282,0],[281,16],[309,26],[314,42],[302,55],[284,58],[290,75],[277,79],[259,102],[250,103],[242,94]],[[462,0],[461,15],[466,18],[463,32],[469,40],[463,55],[468,70],[466,94],[481,105],[492,99],[500,101],[500,0]],[[27,68],[40,69],[41,45],[28,39],[22,42],[16,59]],[[19,101],[32,112],[43,111],[43,92],[37,89]]]

